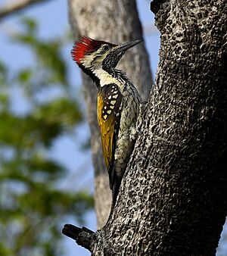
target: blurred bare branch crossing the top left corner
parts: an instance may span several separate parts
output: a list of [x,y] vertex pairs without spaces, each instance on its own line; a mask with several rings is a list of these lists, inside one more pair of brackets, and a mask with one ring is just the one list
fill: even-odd
[[2,8],[0,8],[0,20],[3,17],[6,17],[24,8],[27,8],[30,5],[34,5],[34,4],[45,2],[45,1],[48,1],[48,0],[20,0],[20,1],[5,5]]

